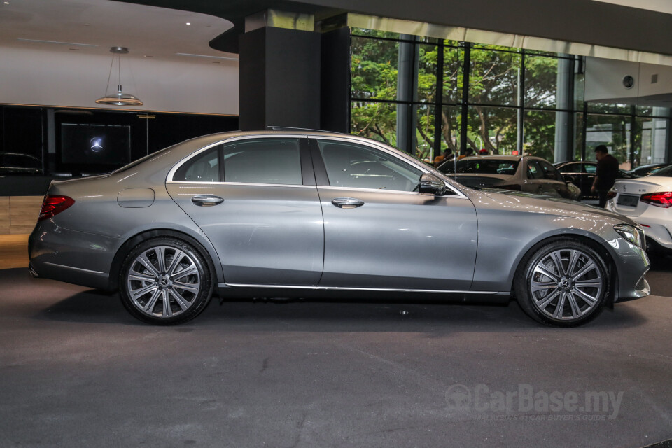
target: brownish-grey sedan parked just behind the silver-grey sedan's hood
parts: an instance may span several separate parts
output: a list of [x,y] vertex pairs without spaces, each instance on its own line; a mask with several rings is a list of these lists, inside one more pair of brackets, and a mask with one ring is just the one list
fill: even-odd
[[536,195],[578,200],[581,192],[545,159],[531,155],[483,155],[455,162],[448,160],[437,169],[471,188],[517,190]]

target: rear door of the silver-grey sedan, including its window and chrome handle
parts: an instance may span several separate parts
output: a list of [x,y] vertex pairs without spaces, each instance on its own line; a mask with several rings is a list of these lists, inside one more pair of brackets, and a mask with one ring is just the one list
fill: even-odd
[[210,239],[225,282],[315,286],[323,225],[306,139],[204,148],[169,174],[171,197]]

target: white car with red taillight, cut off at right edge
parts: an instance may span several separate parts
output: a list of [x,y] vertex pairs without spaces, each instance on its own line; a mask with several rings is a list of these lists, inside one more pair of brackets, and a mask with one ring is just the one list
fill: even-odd
[[641,224],[647,251],[672,253],[672,166],[651,176],[618,179],[605,209]]

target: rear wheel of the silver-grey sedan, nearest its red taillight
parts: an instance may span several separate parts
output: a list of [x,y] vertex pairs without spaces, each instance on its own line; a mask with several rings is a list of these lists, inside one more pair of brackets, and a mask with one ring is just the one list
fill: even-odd
[[119,274],[124,307],[140,321],[176,325],[198,316],[214,290],[207,260],[173,237],[148,239],[126,256]]

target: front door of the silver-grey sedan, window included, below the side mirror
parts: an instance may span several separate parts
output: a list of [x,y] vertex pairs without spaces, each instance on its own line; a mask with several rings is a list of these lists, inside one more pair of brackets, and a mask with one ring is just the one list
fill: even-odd
[[421,169],[374,145],[321,138],[311,150],[324,216],[321,286],[470,288],[478,226],[467,197],[417,193]]

